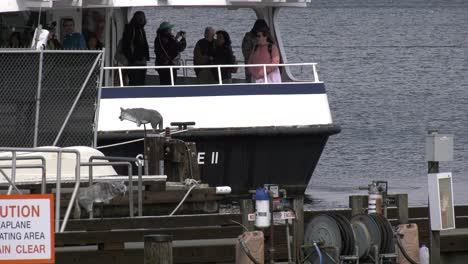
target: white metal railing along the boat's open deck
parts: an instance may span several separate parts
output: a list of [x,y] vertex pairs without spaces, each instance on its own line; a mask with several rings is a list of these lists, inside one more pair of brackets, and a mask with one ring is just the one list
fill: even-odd
[[251,68],[251,67],[263,67],[263,75],[265,78],[265,84],[268,84],[267,67],[291,67],[291,66],[311,66],[313,79],[307,82],[319,83],[319,77],[317,73],[317,63],[279,63],[279,64],[224,64],[224,65],[170,65],[170,66],[112,66],[103,67],[104,70],[117,70],[119,73],[120,87],[124,87],[123,72],[122,70],[132,69],[169,69],[171,75],[171,86],[175,86],[173,69],[204,69],[204,68],[217,68],[219,85],[223,85],[221,78],[221,68]]

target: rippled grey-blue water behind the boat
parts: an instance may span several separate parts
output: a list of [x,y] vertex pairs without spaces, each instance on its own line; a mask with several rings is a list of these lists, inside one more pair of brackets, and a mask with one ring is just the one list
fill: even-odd
[[[250,10],[146,9],[154,38],[163,20],[193,46],[207,25],[231,33],[241,57]],[[390,192],[427,203],[425,135],[455,136],[455,203],[468,203],[468,1],[312,1],[283,9],[289,62],[318,62],[341,134],[331,137],[310,182],[311,207],[344,207],[353,187],[388,180]]]

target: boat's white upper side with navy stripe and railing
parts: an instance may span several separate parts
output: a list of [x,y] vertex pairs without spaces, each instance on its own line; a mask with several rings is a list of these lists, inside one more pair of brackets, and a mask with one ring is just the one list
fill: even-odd
[[[332,124],[328,99],[323,82],[319,80],[316,63],[290,64],[237,64],[248,67],[277,66],[306,67],[310,79],[291,80],[284,77],[281,83],[248,83],[241,78],[244,71],[233,78],[233,83],[198,84],[194,68],[221,69],[233,65],[181,65],[181,66],[133,66],[104,67],[114,71],[117,78],[113,85],[102,88],[99,131],[135,130],[134,123],[116,121],[121,108],[145,108],[157,110],[164,123],[195,122],[198,128],[239,128],[272,126],[310,126]],[[146,85],[126,86],[122,73],[129,69],[145,68],[148,72],[158,68],[177,68],[182,78],[177,82],[171,75],[170,85],[159,85],[158,76],[147,79]],[[184,71],[183,71],[184,70]],[[284,70],[283,70],[284,72]],[[192,73],[192,74],[191,74]],[[240,76],[239,76],[240,75]],[[151,76],[151,75],[150,75]],[[155,81],[156,80],[156,81]],[[142,129],[142,128],[140,128]]]

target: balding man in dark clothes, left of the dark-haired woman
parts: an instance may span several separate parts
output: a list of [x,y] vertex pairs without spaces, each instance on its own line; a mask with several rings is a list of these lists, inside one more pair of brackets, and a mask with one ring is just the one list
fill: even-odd
[[[193,65],[210,65],[213,63],[214,35],[212,27],[205,28],[205,37],[197,41],[193,49]],[[214,83],[214,76],[210,68],[195,68],[198,82],[200,84]]]

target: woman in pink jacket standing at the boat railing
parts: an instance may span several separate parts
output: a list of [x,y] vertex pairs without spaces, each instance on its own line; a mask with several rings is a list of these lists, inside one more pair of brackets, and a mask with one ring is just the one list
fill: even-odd
[[[280,56],[278,47],[275,45],[270,31],[267,28],[262,28],[257,31],[257,44],[250,55],[248,64],[279,64]],[[264,67],[248,67],[248,71],[252,75],[252,82],[265,82]],[[278,66],[266,67],[267,82],[280,83],[281,73]]]

